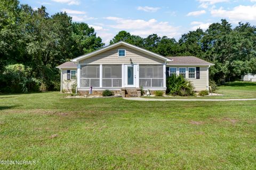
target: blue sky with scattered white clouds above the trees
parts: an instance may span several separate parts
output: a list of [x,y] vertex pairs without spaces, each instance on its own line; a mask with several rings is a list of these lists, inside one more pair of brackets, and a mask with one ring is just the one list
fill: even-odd
[[179,39],[196,28],[207,29],[213,22],[227,19],[256,25],[256,0],[20,0],[33,8],[44,5],[54,14],[66,11],[76,22],[94,27],[102,41],[109,44],[120,30],[147,37],[156,33]]

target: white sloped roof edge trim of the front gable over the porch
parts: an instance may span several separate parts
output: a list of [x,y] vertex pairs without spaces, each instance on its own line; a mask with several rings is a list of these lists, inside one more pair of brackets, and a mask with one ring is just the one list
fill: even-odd
[[154,56],[155,58],[158,58],[158,59],[161,59],[161,60],[164,60],[164,61],[171,61],[169,58],[166,58],[160,54],[156,54],[154,52],[151,52],[151,51],[148,51],[148,50],[145,50],[144,48],[141,48],[141,47],[138,47],[138,46],[135,46],[135,45],[132,45],[132,44],[129,44],[129,43],[126,43],[126,42],[118,42],[118,43],[115,43],[115,44],[111,44],[111,45],[108,45],[106,47],[103,47],[103,48],[100,48],[99,50],[96,50],[94,52],[91,52],[91,53],[88,53],[88,54],[85,54],[85,55],[81,55],[81,56],[78,56],[77,58],[75,59],[72,59],[71,61],[73,62],[78,62],[78,61],[81,61],[81,60],[84,60],[84,59],[87,59],[87,58],[90,58],[91,56],[94,56],[94,55],[97,55],[97,54],[100,54],[102,52],[105,52],[107,50],[110,50],[112,48],[115,48],[117,46],[120,46],[120,45],[124,45],[126,47],[129,47],[129,48],[132,48],[133,50],[137,50],[137,51],[140,51],[142,53],[145,53],[145,54],[148,54],[150,56]]

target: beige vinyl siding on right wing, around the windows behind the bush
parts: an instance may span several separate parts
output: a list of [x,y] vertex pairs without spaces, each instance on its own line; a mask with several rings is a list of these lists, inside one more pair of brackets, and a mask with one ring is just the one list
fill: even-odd
[[186,67],[187,68],[187,79],[190,80],[194,87],[195,91],[207,90],[208,86],[208,78],[207,78],[207,69],[208,67],[200,67],[200,79],[188,78],[188,68],[190,67],[198,67],[198,66],[166,66],[166,67]]

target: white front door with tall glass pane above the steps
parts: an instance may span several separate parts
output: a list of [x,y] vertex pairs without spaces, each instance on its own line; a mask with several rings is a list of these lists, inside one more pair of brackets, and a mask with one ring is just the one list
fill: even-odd
[[125,87],[136,86],[136,65],[135,64],[124,65],[124,86]]

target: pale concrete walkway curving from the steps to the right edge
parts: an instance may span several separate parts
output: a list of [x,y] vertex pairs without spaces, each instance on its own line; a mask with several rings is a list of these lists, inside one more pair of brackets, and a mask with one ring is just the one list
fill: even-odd
[[248,101],[256,99],[149,99],[149,98],[123,98],[125,100],[136,101]]

